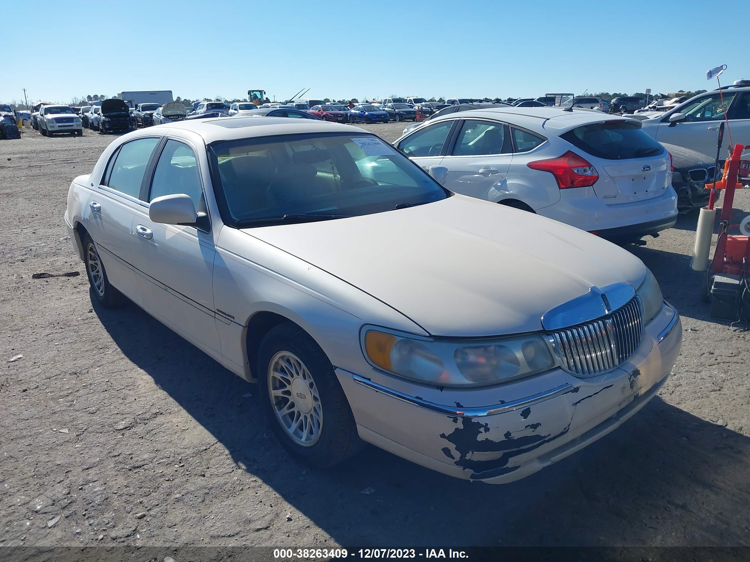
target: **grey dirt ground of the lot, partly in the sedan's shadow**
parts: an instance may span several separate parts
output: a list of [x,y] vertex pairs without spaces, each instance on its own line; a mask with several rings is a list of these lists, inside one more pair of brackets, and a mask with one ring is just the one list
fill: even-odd
[[631,247],[685,331],[622,428],[505,486],[374,447],[320,472],[277,444],[253,385],[136,306],[92,304],[63,212],[112,139],[0,142],[0,546],[750,546],[750,333],[698,302],[694,215]]

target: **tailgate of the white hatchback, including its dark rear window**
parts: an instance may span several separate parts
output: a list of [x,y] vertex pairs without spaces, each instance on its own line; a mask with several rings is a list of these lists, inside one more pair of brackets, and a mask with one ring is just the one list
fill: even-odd
[[667,150],[631,119],[575,127],[562,134],[598,172],[596,196],[607,205],[652,199],[670,186]]

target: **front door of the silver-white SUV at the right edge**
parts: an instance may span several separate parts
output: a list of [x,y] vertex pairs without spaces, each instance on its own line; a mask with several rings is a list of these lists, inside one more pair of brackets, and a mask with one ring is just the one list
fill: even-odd
[[[684,146],[703,154],[716,154],[718,140],[718,125],[724,120],[724,108],[733,111],[733,102],[738,96],[736,91],[724,90],[724,102],[718,91],[710,92],[697,100],[683,106],[679,113],[685,114],[685,121],[670,123],[669,117],[664,116],[656,130],[658,142],[668,142],[677,146]],[[670,112],[670,115],[673,114]],[[746,121],[745,121],[746,122]],[[733,128],[733,124],[730,124]],[[734,132],[732,131],[732,136]],[[738,139],[733,139],[738,142]],[[724,138],[727,145],[728,136]]]

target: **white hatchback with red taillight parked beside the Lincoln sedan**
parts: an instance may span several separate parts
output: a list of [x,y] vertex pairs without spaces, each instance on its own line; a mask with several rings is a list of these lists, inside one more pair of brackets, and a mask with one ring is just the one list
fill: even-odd
[[640,121],[589,110],[499,107],[436,118],[394,142],[443,185],[634,241],[674,225],[671,155]]

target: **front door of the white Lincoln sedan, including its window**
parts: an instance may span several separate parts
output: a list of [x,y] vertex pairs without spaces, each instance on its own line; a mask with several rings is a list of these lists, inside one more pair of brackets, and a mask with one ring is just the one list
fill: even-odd
[[[164,195],[185,193],[196,211],[205,214],[201,174],[193,148],[168,139],[145,195],[150,203]],[[133,222],[133,265],[143,308],[193,344],[217,357],[213,296],[214,238],[205,228],[154,223],[148,208]]]

